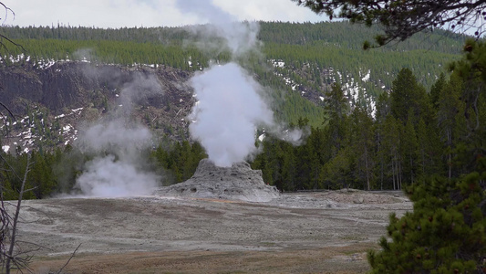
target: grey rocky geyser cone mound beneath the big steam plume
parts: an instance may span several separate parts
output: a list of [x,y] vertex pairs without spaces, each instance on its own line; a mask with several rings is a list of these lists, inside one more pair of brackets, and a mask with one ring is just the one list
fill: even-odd
[[276,187],[264,184],[262,171],[252,170],[249,163],[218,167],[209,159],[202,159],[189,180],[162,187],[155,195],[268,202],[278,197],[279,192]]

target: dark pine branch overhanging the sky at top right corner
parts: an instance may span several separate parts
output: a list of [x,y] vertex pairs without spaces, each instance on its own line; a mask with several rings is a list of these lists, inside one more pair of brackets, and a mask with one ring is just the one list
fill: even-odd
[[[379,25],[384,35],[375,37],[378,46],[403,41],[413,34],[436,27],[486,31],[486,0],[292,0],[317,14],[345,18],[352,23]],[[371,47],[365,42],[365,48]]]

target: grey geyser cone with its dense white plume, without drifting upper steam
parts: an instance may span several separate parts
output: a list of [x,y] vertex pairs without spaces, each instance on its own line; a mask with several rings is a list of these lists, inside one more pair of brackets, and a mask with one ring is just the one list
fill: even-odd
[[264,184],[262,171],[244,162],[256,153],[257,125],[273,123],[261,87],[236,63],[213,66],[191,79],[198,103],[191,112],[191,137],[206,149],[191,179],[158,195],[268,202],[278,190]]

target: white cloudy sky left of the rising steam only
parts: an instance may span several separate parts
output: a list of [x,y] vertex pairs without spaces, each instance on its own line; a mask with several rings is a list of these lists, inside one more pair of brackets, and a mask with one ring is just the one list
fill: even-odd
[[[57,26],[184,26],[195,22],[191,16],[181,16],[174,1],[86,0],[86,1],[4,1],[15,13],[7,25]],[[11,3],[9,3],[11,2]]]

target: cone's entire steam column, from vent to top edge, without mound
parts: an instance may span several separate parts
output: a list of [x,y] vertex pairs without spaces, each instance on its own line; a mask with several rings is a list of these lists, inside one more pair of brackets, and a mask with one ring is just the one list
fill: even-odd
[[[200,37],[222,38],[233,58],[243,58],[259,46],[256,38],[259,27],[255,22],[238,23],[210,0],[178,3],[181,11],[208,20],[210,25],[195,31]],[[209,38],[198,45],[221,47]],[[205,69],[191,79],[191,85],[199,100],[189,117],[191,137],[201,142],[217,166],[231,166],[256,153],[254,142],[258,126],[265,126],[269,132],[276,132],[293,143],[299,142],[303,136],[299,131],[281,132],[282,126],[275,124],[273,112],[262,96],[263,88],[235,62]]]

